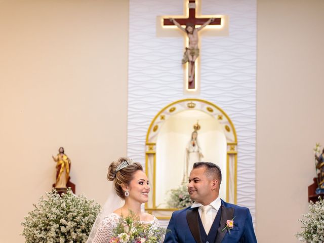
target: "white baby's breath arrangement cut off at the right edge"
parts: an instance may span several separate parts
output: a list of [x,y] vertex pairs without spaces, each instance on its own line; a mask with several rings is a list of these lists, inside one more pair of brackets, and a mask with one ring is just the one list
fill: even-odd
[[308,243],[324,242],[324,201],[322,198],[318,198],[319,200],[315,204],[310,201],[309,212],[303,214],[306,219],[299,220],[303,225],[303,231],[296,234],[300,241]]

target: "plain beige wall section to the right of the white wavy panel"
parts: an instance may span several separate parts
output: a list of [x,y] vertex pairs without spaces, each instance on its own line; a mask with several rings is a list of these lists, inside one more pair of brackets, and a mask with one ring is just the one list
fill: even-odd
[[258,1],[257,198],[259,242],[300,242],[322,112],[324,2]]

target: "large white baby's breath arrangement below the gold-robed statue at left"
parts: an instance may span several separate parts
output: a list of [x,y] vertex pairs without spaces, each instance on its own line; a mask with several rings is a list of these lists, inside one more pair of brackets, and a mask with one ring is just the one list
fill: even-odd
[[100,205],[85,195],[74,195],[70,188],[62,196],[53,188],[46,196],[22,223],[25,242],[86,242]]

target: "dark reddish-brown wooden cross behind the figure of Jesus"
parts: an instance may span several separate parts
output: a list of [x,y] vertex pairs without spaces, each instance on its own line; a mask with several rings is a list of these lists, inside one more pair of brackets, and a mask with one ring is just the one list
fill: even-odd
[[[176,20],[180,25],[186,25],[187,23],[191,23],[194,25],[203,25],[204,23],[206,23],[209,18],[196,18],[196,1],[195,0],[189,0],[188,3],[188,12],[189,12],[189,17],[188,18],[175,18],[174,20]],[[213,22],[211,22],[209,25],[220,25],[221,24],[221,18],[215,18]],[[167,19],[163,19],[163,25],[164,26],[168,26],[168,25],[175,25],[169,18]],[[193,63],[194,65],[194,63]],[[193,70],[194,70],[195,66],[193,66]],[[188,77],[189,77],[189,73],[190,71],[188,70]],[[196,82],[195,82],[196,78],[193,75],[193,77],[188,78],[188,90],[194,90],[196,88]]]

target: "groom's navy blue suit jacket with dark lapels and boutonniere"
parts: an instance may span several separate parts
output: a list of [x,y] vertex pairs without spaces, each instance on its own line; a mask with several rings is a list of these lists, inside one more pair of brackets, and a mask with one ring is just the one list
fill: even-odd
[[[255,243],[257,242],[250,210],[245,207],[239,207],[234,204],[225,203],[221,200],[221,219],[218,227],[212,227],[217,231],[214,242],[209,243]],[[201,240],[199,229],[199,213],[197,208],[186,208],[175,211],[170,219],[164,242],[165,243],[205,243]],[[226,225],[227,220],[234,218],[234,227],[228,233],[222,229]]]

